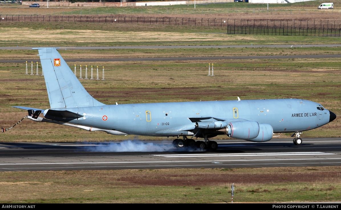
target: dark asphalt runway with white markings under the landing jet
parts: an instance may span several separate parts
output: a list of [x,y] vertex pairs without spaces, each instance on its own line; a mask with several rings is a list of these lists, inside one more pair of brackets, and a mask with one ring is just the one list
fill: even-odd
[[120,152],[132,150],[127,142],[0,143],[0,171],[341,166],[341,138],[303,138],[300,146],[292,138],[217,140],[216,152],[179,151],[171,142],[128,142],[135,152]]

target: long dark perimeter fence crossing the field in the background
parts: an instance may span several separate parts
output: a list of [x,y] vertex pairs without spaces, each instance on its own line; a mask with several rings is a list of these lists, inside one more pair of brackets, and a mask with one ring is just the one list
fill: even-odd
[[340,37],[341,20],[141,17],[101,15],[0,15],[0,22],[161,24],[227,28],[228,34]]

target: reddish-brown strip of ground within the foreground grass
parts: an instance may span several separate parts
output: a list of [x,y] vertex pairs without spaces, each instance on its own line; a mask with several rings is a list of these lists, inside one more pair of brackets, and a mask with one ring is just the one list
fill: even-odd
[[[133,184],[158,185],[158,186],[197,186],[219,185],[226,183],[262,184],[262,183],[283,183],[283,182],[316,182],[337,180],[338,172],[288,172],[288,173],[262,173],[262,174],[149,174],[148,176],[124,176],[119,181]],[[205,180],[205,181],[203,181]]]

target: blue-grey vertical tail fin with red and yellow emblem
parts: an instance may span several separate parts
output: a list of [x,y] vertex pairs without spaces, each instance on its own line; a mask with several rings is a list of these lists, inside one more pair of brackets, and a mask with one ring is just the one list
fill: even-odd
[[57,48],[44,47],[33,50],[39,52],[51,109],[105,105],[85,90]]

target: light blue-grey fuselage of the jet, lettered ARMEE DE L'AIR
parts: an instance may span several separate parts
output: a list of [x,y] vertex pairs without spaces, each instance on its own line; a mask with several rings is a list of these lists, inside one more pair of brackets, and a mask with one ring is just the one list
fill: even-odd
[[276,133],[310,130],[329,122],[329,111],[319,110],[318,106],[321,105],[301,99],[264,99],[118,104],[67,110],[84,115],[70,123],[127,134],[181,136],[183,131],[195,128],[189,118],[199,116],[267,123]]

